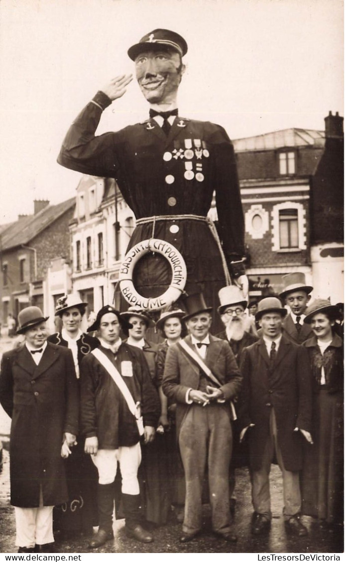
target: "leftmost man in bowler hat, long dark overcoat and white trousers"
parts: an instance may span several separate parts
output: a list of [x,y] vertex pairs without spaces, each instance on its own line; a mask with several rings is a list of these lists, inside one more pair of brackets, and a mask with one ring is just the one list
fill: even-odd
[[0,403],[12,418],[11,505],[18,552],[55,552],[53,506],[68,501],[65,450],[78,432],[79,396],[70,350],[47,342],[41,309],[19,312],[24,345],[2,356]]

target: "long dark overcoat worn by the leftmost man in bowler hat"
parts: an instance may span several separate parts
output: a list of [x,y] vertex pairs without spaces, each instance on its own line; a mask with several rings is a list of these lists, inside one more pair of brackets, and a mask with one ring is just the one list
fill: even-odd
[[39,365],[26,346],[3,354],[0,402],[12,418],[11,504],[38,507],[68,501],[61,445],[78,433],[78,387],[70,350],[47,343]]

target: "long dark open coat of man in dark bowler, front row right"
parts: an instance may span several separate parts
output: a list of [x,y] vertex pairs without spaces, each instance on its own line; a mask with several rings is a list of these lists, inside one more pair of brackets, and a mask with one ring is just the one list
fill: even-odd
[[[259,470],[270,433],[271,409],[274,407],[277,438],[286,470],[302,469],[301,432],[311,431],[311,371],[308,354],[302,346],[281,338],[275,364],[270,366],[263,339],[243,350],[241,360],[243,387],[239,396],[240,428],[247,430],[249,463]],[[246,437],[247,438],[247,437]]]

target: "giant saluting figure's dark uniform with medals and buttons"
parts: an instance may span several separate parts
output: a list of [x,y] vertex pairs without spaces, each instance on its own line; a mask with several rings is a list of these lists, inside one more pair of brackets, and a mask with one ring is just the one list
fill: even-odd
[[[102,108],[111,103],[102,92],[93,99]],[[172,244],[186,262],[187,293],[202,289],[208,305],[217,307],[218,291],[225,285],[217,243],[206,221],[181,220],[178,215],[207,216],[216,192],[218,232],[226,260],[230,263],[244,256],[238,173],[225,130],[208,121],[176,117],[168,137],[154,119],[95,137],[101,114],[98,105],[88,103],[71,125],[57,161],[85,174],[115,178],[136,219],[171,217],[156,220],[154,228],[152,221],[138,224],[128,249],[152,237]],[[141,262],[140,268],[136,265],[137,291],[152,297],[155,287],[155,294],[162,294],[171,279],[167,260],[155,255]],[[244,273],[242,267],[236,271]]]

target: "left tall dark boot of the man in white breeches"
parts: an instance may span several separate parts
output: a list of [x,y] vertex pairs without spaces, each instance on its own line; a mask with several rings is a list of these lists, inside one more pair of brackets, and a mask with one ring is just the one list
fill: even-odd
[[89,542],[90,549],[98,549],[105,542],[114,538],[114,484],[98,484],[97,487],[98,520],[100,526],[97,534]]

